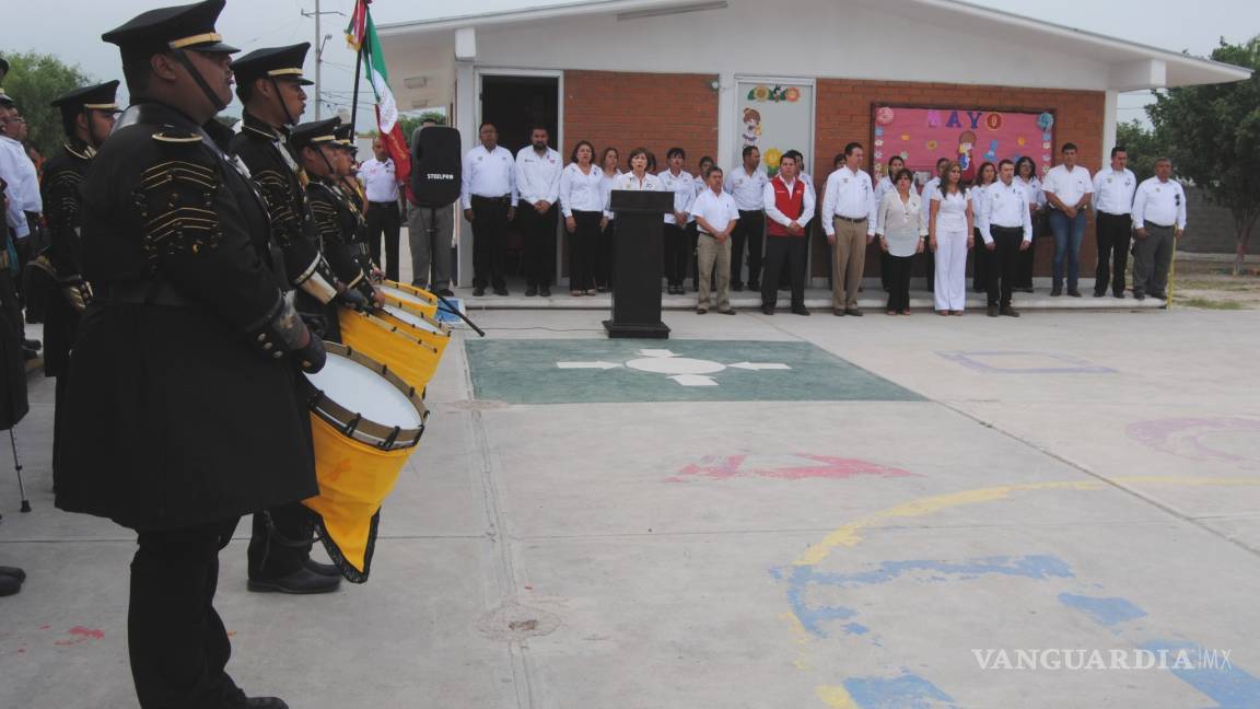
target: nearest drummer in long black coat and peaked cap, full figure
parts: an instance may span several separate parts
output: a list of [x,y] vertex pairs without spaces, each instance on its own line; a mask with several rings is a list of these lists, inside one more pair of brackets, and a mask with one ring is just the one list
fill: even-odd
[[319,492],[297,371],[324,366],[271,266],[266,206],[214,120],[223,0],[107,32],[132,105],[83,182],[94,298],[71,357],[57,506],[137,532],[127,648],[142,709],[268,708],[224,671],[218,553],[242,515]]

